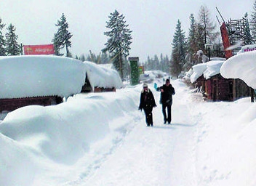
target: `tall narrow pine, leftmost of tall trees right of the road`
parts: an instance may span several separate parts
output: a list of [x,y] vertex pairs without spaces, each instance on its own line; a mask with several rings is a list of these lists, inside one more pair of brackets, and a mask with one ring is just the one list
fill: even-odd
[[175,36],[172,41],[172,63],[171,73],[173,76],[179,76],[185,65],[186,39],[185,32],[181,28],[180,20],[177,20]]

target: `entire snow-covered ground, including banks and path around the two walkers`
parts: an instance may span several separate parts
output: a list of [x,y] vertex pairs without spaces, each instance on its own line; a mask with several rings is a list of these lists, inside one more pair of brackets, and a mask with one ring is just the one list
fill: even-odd
[[203,102],[171,83],[172,125],[157,104],[145,126],[141,84],[9,113],[0,121],[0,185],[256,185],[255,103]]

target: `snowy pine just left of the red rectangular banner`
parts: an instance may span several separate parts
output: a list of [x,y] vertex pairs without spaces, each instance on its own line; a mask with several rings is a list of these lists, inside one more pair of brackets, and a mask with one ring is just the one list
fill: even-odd
[[14,25],[10,24],[7,28],[7,33],[5,35],[6,41],[6,52],[7,55],[19,55],[20,44],[17,43],[18,36],[15,34],[16,28]]

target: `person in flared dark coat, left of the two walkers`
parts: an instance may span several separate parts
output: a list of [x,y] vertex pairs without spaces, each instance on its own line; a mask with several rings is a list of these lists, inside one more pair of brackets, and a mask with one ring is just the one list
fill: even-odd
[[151,89],[148,89],[148,84],[143,84],[143,90],[140,94],[139,110],[144,110],[147,126],[153,126],[152,110],[154,107],[156,107],[156,102],[153,93],[151,92]]

